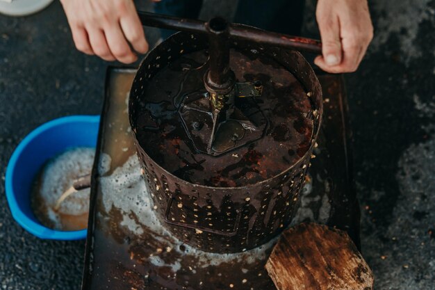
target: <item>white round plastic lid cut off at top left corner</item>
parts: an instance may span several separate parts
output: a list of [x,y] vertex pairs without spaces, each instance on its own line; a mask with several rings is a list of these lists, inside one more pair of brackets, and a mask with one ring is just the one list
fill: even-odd
[[25,16],[46,8],[53,0],[0,0],[0,13],[10,16]]

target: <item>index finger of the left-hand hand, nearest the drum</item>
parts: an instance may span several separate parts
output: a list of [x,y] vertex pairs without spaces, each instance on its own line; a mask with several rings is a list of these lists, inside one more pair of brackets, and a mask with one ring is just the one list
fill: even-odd
[[125,38],[129,40],[133,49],[140,54],[145,54],[148,51],[148,43],[145,40],[145,33],[140,23],[137,13],[130,13],[125,17],[121,17],[120,25],[124,32]]

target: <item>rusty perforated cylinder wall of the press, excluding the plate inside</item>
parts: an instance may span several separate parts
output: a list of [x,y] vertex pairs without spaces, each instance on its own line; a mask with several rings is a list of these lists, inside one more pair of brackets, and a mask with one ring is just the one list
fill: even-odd
[[[145,145],[147,136],[144,135],[143,127],[148,126],[158,131],[161,130],[161,121],[149,121],[151,119],[148,120],[141,110],[157,106],[157,103],[151,104],[150,99],[154,96],[147,95],[147,88],[158,86],[159,89],[165,90],[168,87],[165,83],[155,81],[162,67],[171,65],[186,54],[207,48],[208,39],[205,35],[180,32],[152,50],[142,61],[133,81],[129,118],[145,183],[154,201],[156,215],[166,229],[181,241],[199,250],[242,252],[270,241],[290,224],[297,209],[299,194],[304,186],[315,138],[320,128],[322,92],[309,63],[297,51],[265,47],[254,42],[231,42],[233,49],[256,51],[256,54],[276,61],[293,74],[304,90],[309,92],[306,97],[312,109],[304,118],[312,120],[311,138],[304,153],[288,168],[259,182],[247,182],[237,186],[211,186],[192,182],[187,178],[188,175],[186,178],[183,175],[177,176],[153,157],[156,155],[149,150],[148,145]],[[171,79],[168,78],[167,81],[170,82]],[[170,92],[167,92],[167,95],[169,97]],[[178,103],[175,103],[176,100],[171,100],[165,106],[158,103],[158,109],[164,111],[168,106],[177,107]],[[265,135],[269,134],[270,130],[267,129]],[[251,146],[254,146],[255,142],[257,141],[251,143]],[[231,152],[227,154],[236,155]],[[226,157],[213,158],[220,162]]]

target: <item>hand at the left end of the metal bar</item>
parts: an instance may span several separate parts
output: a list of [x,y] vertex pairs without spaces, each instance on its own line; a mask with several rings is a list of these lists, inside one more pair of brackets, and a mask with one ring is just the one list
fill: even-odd
[[60,0],[76,48],[106,61],[133,63],[148,43],[133,0]]

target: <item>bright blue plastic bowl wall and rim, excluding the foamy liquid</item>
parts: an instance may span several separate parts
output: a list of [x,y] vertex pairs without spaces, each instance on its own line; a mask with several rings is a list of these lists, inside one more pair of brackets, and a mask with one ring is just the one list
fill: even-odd
[[96,147],[99,116],[74,115],[36,128],[17,146],[6,170],[6,198],[13,218],[42,239],[85,239],[87,229],[59,231],[42,225],[31,210],[31,187],[45,162],[69,147]]

